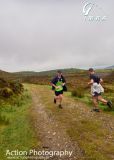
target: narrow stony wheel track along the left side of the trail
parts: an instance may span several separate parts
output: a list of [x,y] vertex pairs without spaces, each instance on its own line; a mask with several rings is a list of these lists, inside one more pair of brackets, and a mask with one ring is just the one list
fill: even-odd
[[53,115],[46,112],[45,105],[41,101],[40,93],[35,87],[31,90],[36,132],[40,136],[42,148],[49,151],[71,151],[72,156],[54,156],[53,160],[77,160],[82,157],[78,144],[73,143],[63,127],[54,119]]

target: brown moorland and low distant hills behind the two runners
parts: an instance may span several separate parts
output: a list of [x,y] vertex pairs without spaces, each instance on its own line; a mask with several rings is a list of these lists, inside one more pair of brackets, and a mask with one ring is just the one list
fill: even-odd
[[[113,66],[107,69],[100,69],[96,70],[96,72],[104,78],[107,83],[114,81],[114,69]],[[88,81],[88,72],[84,69],[77,69],[77,68],[68,68],[68,69],[60,69],[63,75],[67,79],[67,84],[69,86],[75,86],[75,84],[80,85],[81,81],[87,83]],[[52,77],[56,75],[56,70],[50,71],[42,71],[42,72],[35,72],[35,71],[22,71],[22,72],[14,72],[9,73],[6,71],[0,70],[0,79],[5,79],[6,81],[18,81],[20,83],[34,83],[34,84],[50,84]]]

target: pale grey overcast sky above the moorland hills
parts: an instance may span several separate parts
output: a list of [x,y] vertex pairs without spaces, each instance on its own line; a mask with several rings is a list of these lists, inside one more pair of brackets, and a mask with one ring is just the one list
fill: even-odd
[[[114,65],[114,0],[0,0],[0,69]],[[86,18],[86,20],[85,20]]]

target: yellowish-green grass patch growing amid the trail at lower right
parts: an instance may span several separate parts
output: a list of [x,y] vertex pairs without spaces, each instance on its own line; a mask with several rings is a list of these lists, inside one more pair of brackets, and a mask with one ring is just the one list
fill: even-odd
[[[106,156],[108,152],[103,150],[106,131],[101,130],[101,124],[98,122],[82,120],[78,123],[71,123],[67,132],[72,140],[78,141],[78,144],[84,151],[84,159],[110,159]],[[102,149],[100,150],[100,148]]]

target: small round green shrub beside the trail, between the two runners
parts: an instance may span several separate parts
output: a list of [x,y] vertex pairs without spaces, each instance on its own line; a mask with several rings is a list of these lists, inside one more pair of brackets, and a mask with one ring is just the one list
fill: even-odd
[[75,90],[72,90],[71,94],[73,97],[83,98],[84,97],[84,89],[77,88]]

